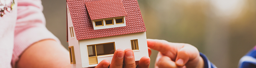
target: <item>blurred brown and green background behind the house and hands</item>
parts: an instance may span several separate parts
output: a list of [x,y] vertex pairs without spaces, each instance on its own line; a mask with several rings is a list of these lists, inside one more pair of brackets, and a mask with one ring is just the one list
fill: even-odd
[[[147,38],[189,43],[219,68],[237,68],[256,45],[256,0],[138,0]],[[66,0],[42,0],[46,27],[66,42]],[[154,68],[157,51],[152,51]]]

